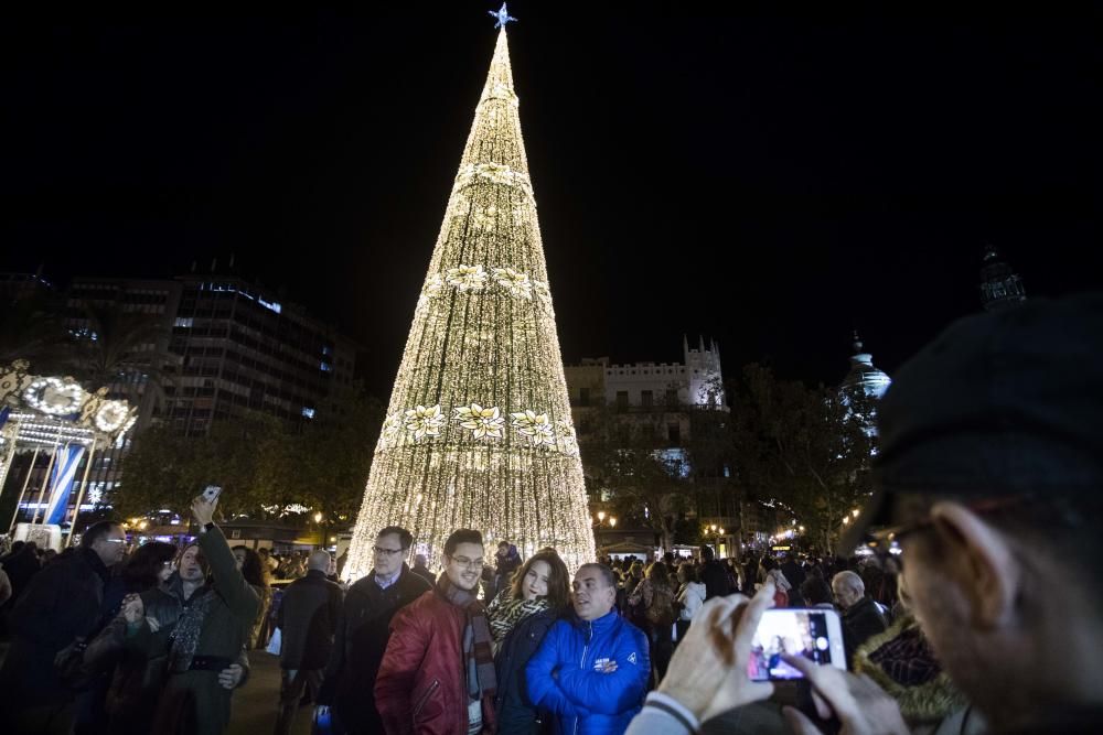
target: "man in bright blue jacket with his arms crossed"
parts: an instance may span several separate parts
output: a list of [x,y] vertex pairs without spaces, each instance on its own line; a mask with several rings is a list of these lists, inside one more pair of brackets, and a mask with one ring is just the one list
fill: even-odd
[[643,705],[651,672],[647,637],[613,609],[617,577],[582,564],[570,602],[575,615],[548,631],[528,661],[528,698],[555,713],[557,732],[617,734]]

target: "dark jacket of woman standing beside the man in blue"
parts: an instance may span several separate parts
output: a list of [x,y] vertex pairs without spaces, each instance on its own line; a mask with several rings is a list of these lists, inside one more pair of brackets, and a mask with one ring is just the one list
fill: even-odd
[[555,620],[552,610],[529,615],[510,631],[494,657],[494,672],[497,677],[494,710],[497,714],[497,732],[503,735],[552,732],[552,715],[543,713],[542,716],[536,711],[536,705],[528,701],[525,667]]

